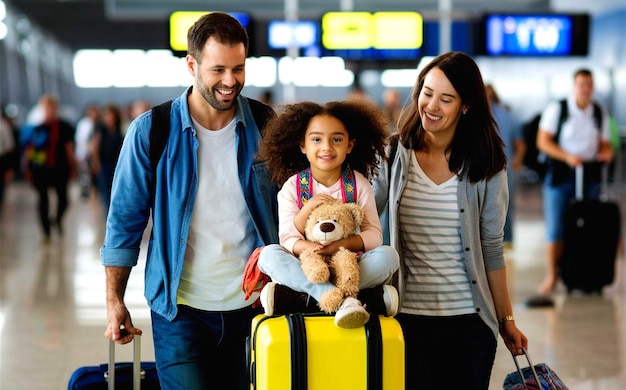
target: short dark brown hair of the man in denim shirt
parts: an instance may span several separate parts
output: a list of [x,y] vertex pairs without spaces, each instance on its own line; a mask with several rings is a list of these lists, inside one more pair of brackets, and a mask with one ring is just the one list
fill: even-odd
[[201,16],[187,31],[187,53],[200,61],[202,48],[209,38],[222,44],[243,43],[248,56],[249,39],[246,29],[234,17],[224,12],[211,12]]

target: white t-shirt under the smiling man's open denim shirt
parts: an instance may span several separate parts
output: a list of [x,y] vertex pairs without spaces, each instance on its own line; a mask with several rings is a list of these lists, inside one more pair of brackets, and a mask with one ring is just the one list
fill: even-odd
[[198,192],[189,226],[177,302],[202,310],[250,305],[241,290],[255,232],[237,173],[236,120],[198,129]]

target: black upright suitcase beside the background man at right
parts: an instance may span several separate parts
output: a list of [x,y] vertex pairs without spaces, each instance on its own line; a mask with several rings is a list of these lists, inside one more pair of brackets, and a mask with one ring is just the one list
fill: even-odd
[[601,293],[615,277],[621,215],[619,205],[605,199],[606,166],[601,168],[602,200],[583,199],[583,169],[576,169],[576,200],[565,213],[561,278],[568,293]]

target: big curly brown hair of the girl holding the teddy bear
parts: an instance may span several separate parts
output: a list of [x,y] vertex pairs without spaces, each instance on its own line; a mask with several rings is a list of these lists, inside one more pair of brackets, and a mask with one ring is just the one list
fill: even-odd
[[356,140],[344,165],[365,177],[378,172],[381,156],[385,157],[388,120],[374,103],[364,99],[287,104],[278,116],[270,119],[263,130],[258,158],[267,162],[272,181],[282,186],[292,175],[310,166],[300,146],[309,122],[314,116],[328,115],[339,119],[350,139]]

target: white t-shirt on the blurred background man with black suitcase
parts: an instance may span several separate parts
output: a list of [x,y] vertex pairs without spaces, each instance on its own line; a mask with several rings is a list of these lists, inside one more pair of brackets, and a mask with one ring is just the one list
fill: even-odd
[[[559,139],[556,140],[564,151],[580,156],[583,160],[594,160],[599,147],[600,137],[610,139],[609,119],[606,110],[602,109],[602,131],[599,132],[593,116],[593,104],[580,109],[573,97],[567,99],[568,116],[563,122]],[[559,125],[561,103],[549,104],[541,114],[539,128],[554,135]]]

